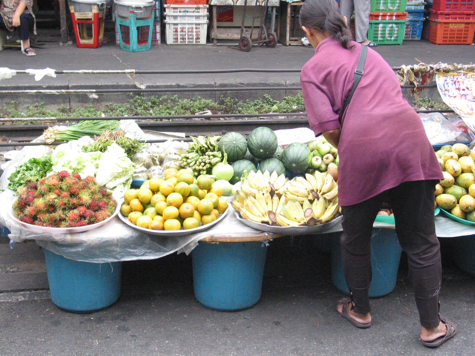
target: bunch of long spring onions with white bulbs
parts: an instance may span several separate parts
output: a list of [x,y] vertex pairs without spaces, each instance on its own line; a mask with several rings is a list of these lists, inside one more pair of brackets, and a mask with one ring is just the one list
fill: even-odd
[[73,141],[78,140],[83,136],[95,137],[100,135],[104,130],[114,130],[119,127],[119,121],[93,121],[85,120],[72,126],[53,126],[48,127],[43,132],[43,138],[47,143],[53,143],[55,141]]

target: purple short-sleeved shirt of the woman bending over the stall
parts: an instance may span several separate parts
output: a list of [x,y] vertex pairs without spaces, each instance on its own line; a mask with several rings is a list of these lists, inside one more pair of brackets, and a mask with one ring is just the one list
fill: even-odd
[[[333,36],[326,38],[302,69],[305,109],[315,135],[340,128],[338,117],[361,52],[361,44],[351,45],[348,50]],[[402,97],[391,67],[371,48],[343,120],[340,205],[360,203],[403,182],[443,178],[419,115]]]

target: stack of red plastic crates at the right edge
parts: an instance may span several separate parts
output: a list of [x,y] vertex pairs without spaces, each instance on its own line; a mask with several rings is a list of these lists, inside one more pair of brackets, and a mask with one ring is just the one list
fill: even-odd
[[475,35],[473,0],[434,0],[429,9],[428,40],[437,45],[471,45]]

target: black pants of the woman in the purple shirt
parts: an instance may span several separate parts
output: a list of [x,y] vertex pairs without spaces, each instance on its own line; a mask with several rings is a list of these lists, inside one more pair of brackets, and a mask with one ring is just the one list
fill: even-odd
[[409,278],[414,288],[420,323],[439,325],[438,296],[442,281],[440,246],[434,225],[434,180],[405,182],[376,197],[342,206],[342,260],[353,310],[370,312],[371,233],[383,201],[390,202],[399,244],[408,255]]

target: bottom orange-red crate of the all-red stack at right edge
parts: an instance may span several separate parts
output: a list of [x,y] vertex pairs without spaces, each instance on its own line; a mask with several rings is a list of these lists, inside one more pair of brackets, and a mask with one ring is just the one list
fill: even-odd
[[471,45],[474,40],[475,20],[429,21],[429,41],[436,45]]

